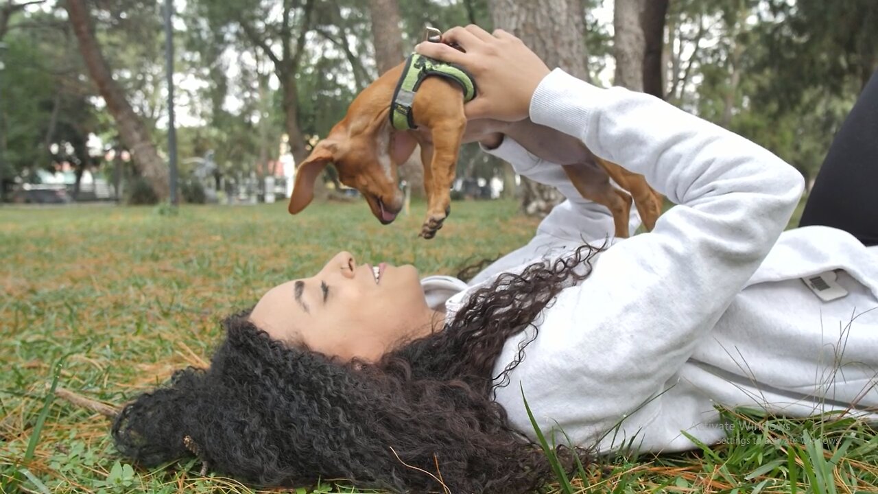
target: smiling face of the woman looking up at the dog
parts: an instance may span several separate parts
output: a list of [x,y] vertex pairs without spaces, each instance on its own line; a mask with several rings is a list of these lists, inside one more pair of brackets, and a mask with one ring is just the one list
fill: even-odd
[[428,335],[442,317],[428,308],[414,266],[357,265],[339,252],[313,277],[271,288],[250,320],[290,345],[375,361],[401,340]]

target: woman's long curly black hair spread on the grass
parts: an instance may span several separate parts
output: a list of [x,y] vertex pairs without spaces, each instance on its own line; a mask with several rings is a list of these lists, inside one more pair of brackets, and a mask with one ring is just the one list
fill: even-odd
[[[228,316],[208,369],[178,371],[119,413],[116,447],[147,467],[197,454],[211,469],[261,485],[345,479],[398,492],[535,490],[551,480],[550,463],[492,399],[527,342],[503,373],[493,368],[507,338],[585,279],[598,251],[584,245],[500,275],[443,331],[375,363],[273,340],[248,311]],[[558,453],[571,469],[574,456],[587,461],[577,449]]]

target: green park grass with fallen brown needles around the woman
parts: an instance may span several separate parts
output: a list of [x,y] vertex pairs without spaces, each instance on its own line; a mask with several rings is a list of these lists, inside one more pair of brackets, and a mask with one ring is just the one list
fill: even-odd
[[[219,318],[267,287],[310,275],[336,251],[453,274],[468,260],[526,243],[536,220],[510,202],[455,203],[433,241],[416,238],[424,207],[389,227],[362,204],[0,208],[0,486],[25,492],[251,492],[202,477],[194,461],[133,468],[107,419],[54,386],[124,403],[176,368],[203,366]],[[690,454],[619,456],[556,492],[878,491],[878,436],[852,420],[728,412],[729,440]],[[306,490],[293,490],[297,494]],[[326,486],[319,492],[351,492]]]

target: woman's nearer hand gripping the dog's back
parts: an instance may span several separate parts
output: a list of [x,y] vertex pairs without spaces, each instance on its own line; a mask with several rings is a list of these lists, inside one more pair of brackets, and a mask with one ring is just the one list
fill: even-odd
[[[452,27],[442,40],[425,41],[414,49],[456,63],[475,78],[478,95],[464,106],[467,119],[515,121],[528,117],[530,98],[550,70],[522,40],[500,29],[487,33],[478,25]],[[457,44],[465,53],[446,43]]]

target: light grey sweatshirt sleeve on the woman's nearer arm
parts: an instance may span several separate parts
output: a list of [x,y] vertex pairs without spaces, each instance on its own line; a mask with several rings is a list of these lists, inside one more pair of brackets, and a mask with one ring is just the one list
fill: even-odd
[[522,430],[530,425],[518,381],[546,430],[597,436],[666,389],[780,236],[803,179],[759,145],[659,98],[600,89],[560,69],[537,87],[530,118],[643,174],[677,204],[558,295],[513,385],[498,392]]

